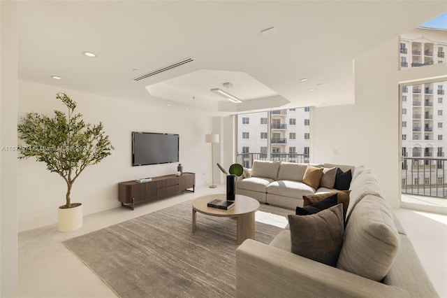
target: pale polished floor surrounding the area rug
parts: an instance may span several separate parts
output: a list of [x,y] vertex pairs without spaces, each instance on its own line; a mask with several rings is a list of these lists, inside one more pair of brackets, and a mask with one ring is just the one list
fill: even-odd
[[[57,232],[57,225],[19,234],[19,297],[117,297],[61,241],[93,232],[146,213],[160,210],[200,195],[224,192],[207,186],[196,193],[184,193],[167,199],[142,203],[130,211],[115,208],[87,215],[84,225],[73,232]],[[261,205],[261,210],[286,215],[281,208]],[[293,212],[292,212],[293,213]],[[427,274],[441,297],[447,297],[447,216],[400,209],[397,217],[406,229]]]

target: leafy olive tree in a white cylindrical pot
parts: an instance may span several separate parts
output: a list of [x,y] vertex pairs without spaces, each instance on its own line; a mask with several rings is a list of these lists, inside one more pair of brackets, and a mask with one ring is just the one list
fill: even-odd
[[71,202],[71,188],[80,173],[90,164],[98,164],[113,148],[103,131],[103,124],[91,125],[75,114],[76,103],[65,93],[56,98],[68,108],[68,113],[54,111],[54,118],[27,113],[20,118],[19,158],[36,157],[45,162],[50,172],[58,173],[67,185],[66,203],[59,206],[58,229],[67,232],[82,226],[82,204]]

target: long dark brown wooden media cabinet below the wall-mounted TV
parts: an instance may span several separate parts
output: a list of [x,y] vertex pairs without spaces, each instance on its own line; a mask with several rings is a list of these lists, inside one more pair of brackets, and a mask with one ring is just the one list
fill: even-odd
[[152,177],[152,181],[143,183],[124,181],[118,183],[118,200],[121,206],[133,210],[135,203],[140,201],[151,201],[178,192],[194,192],[195,188],[195,173]]

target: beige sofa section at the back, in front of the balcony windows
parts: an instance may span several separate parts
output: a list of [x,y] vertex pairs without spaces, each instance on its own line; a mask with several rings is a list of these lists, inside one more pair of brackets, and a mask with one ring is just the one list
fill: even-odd
[[[238,178],[236,193],[257,199],[263,204],[295,209],[296,206],[303,205],[302,197],[305,195],[333,191],[332,188],[322,186],[315,189],[302,182],[308,165],[255,160],[251,169],[245,169],[245,177]],[[312,165],[325,169],[338,167],[344,172],[351,170],[352,177],[357,174],[355,166]]]

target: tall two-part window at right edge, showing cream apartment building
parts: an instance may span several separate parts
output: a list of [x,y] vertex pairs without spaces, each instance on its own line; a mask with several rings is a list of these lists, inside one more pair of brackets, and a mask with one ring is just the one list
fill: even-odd
[[[446,45],[445,24],[423,24],[402,34],[400,70],[447,63]],[[446,78],[420,78],[400,85],[403,206],[447,208],[446,88]]]

